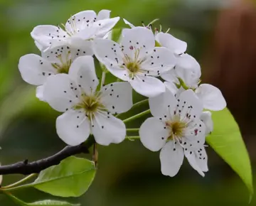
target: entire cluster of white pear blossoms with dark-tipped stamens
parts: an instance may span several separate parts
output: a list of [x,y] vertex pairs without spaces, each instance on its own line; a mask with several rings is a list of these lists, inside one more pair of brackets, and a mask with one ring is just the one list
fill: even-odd
[[[201,67],[185,53],[185,42],[152,30],[151,24],[134,26],[126,20],[131,28],[122,29],[115,42],[110,34],[117,21],[107,10],[81,11],[63,26],[36,26],[31,36],[41,55],[21,57],[21,77],[38,86],[38,99],[63,112],[56,130],[71,146],[90,134],[103,146],[124,141],[127,129],[116,114],[133,107],[132,89],[149,97],[153,117],[144,121],[139,137],[149,150],[161,150],[161,172],[176,175],[186,156],[204,175],[204,143],[213,121],[203,109],[224,109],[223,95],[213,85],[200,84]],[[95,65],[102,67],[101,81]],[[107,74],[117,82],[104,85]]]

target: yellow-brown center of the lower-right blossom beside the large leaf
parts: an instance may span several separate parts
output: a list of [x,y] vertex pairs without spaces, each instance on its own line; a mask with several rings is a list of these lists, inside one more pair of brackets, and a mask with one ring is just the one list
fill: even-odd
[[186,123],[183,121],[166,121],[166,126],[170,129],[168,139],[179,139],[183,136],[183,131],[186,128]]

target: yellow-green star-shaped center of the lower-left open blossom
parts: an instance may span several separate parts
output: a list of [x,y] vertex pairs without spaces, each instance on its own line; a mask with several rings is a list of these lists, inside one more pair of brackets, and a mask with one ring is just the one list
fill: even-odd
[[97,95],[87,96],[83,94],[81,97],[81,102],[75,106],[75,109],[83,109],[89,119],[92,119],[98,110],[106,110]]

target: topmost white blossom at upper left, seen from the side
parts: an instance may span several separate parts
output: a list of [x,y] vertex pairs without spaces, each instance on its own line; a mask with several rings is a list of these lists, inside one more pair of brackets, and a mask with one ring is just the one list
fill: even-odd
[[31,36],[40,50],[66,44],[78,46],[80,43],[86,43],[87,48],[91,48],[91,40],[105,36],[117,21],[119,17],[110,18],[109,10],[102,10],[98,14],[92,10],[80,11],[71,16],[62,27],[36,26]]

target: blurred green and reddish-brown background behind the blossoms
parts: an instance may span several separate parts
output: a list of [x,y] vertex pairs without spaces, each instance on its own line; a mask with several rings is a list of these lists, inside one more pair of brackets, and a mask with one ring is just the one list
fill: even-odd
[[[251,62],[256,54],[256,49],[253,50],[256,10],[250,1],[224,0],[0,0],[2,164],[26,158],[33,161],[65,146],[55,132],[58,113],[36,99],[35,87],[23,82],[18,59],[27,53],[39,54],[30,36],[34,26],[65,23],[70,15],[89,9],[110,9],[112,16],[126,18],[137,26],[141,21],[149,23],[160,18],[164,31],[170,28],[174,36],[186,40],[187,52],[202,65],[203,81],[223,90],[228,107],[241,126],[255,168],[256,123],[251,109],[255,97],[251,83],[256,73]],[[117,26],[124,23],[120,21]],[[247,36],[247,32],[251,35]],[[139,124],[140,120],[130,126]],[[99,168],[94,183],[79,200],[70,199],[70,202],[80,202],[82,206],[248,205],[249,193],[238,175],[211,148],[208,156],[210,170],[205,178],[188,163],[175,178],[168,178],[161,175],[159,153],[146,150],[139,141],[99,146]],[[19,178],[19,175],[4,176],[4,185]],[[17,191],[14,195],[26,202],[43,198],[59,200],[33,189]],[[14,203],[0,195],[0,205]],[[256,205],[255,198],[251,205]]]

